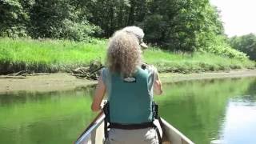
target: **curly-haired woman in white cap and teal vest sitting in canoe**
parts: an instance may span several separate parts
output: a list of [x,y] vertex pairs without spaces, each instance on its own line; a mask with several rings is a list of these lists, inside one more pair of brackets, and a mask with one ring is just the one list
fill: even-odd
[[110,38],[107,68],[102,70],[92,103],[92,110],[101,110],[108,96],[110,131],[106,143],[158,143],[158,134],[151,125],[153,91],[162,94],[162,84],[153,66],[142,66],[144,33],[136,26],[118,30]]

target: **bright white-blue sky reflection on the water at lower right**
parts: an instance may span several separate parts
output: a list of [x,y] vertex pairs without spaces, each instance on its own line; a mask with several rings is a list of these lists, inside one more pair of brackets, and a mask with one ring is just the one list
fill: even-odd
[[221,133],[225,143],[256,143],[256,103],[229,102]]

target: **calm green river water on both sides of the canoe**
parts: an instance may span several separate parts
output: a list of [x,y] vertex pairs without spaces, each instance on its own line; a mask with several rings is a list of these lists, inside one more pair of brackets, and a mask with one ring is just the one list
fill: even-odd
[[[256,78],[166,84],[160,114],[198,144],[255,144]],[[72,143],[96,114],[94,87],[0,94],[0,143]]]

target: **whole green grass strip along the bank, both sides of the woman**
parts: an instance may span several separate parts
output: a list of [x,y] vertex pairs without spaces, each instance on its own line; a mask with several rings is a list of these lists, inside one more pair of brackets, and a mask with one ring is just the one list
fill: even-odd
[[[105,61],[106,40],[90,43],[67,40],[32,40],[0,38],[0,74],[34,70],[34,72],[70,71],[88,66],[91,61]],[[174,54],[158,48],[144,52],[147,63],[160,71],[190,73],[197,71],[254,68],[248,59],[224,58],[214,54]]]

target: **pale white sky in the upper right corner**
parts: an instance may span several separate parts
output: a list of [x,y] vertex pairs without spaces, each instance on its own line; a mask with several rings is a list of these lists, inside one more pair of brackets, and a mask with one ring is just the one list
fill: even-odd
[[256,0],[210,0],[210,3],[220,10],[229,37],[256,34]]

